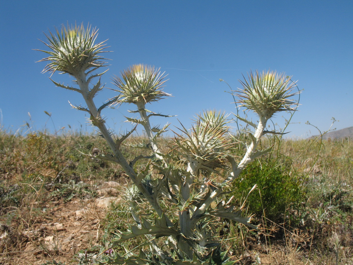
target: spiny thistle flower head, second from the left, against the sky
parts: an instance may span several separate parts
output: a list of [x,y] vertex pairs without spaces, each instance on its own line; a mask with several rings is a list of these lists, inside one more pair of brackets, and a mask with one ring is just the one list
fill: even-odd
[[163,80],[166,76],[160,72],[160,69],[155,70],[154,66],[137,64],[132,65],[128,69],[121,72],[122,80],[115,76],[113,84],[120,90],[115,90],[120,93],[117,102],[148,103],[158,101],[164,96],[170,96],[162,91]]

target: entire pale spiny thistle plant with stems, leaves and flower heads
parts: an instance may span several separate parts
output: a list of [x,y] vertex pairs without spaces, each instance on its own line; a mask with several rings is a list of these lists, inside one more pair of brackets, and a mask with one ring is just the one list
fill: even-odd
[[[276,133],[265,130],[268,120],[276,112],[295,110],[292,93],[295,83],[284,75],[263,72],[250,73],[249,80],[241,81],[243,89],[236,92],[241,105],[253,110],[259,118],[253,123],[236,116],[251,127],[249,143],[243,158],[234,155],[239,143],[234,140],[230,124],[234,119],[217,111],[204,111],[194,120],[191,129],[181,125],[174,132],[170,150],[158,146],[158,137],[167,130],[168,124],[159,128],[152,126],[150,119],[155,116],[170,117],[146,109],[146,104],[170,96],[162,91],[164,73],[148,65],[133,65],[121,72],[121,78],[114,76],[116,93],[107,103],[96,107],[94,97],[104,88],[101,77],[106,72],[96,73],[106,66],[101,57],[104,42],[95,44],[97,31],[90,27],[62,27],[61,32],[46,35],[49,57],[46,71],[67,73],[74,78],[77,87],[56,86],[82,94],[86,107],[71,105],[80,111],[88,112],[90,122],[96,126],[107,141],[110,151],[91,157],[113,161],[119,164],[131,179],[124,198],[136,225],[113,240],[113,246],[135,237],[146,238],[139,253],[127,252],[109,257],[107,264],[226,264],[226,252],[221,251],[217,226],[222,218],[245,224],[252,229],[251,217],[242,217],[235,205],[225,205],[222,194],[229,184],[236,180],[240,172],[251,161],[271,149],[258,150],[258,143],[265,134]],[[45,43],[45,42],[44,42]],[[42,51],[42,50],[40,50]],[[98,81],[91,85],[94,78]],[[130,113],[139,117],[126,117],[133,125],[125,135],[115,135],[106,127],[101,112],[113,104],[131,104],[135,109]],[[293,107],[294,106],[294,107]],[[148,143],[128,144],[137,126],[142,126]],[[144,148],[150,155],[138,155],[127,161],[120,151],[122,145],[131,148]],[[146,160],[146,167],[135,166],[140,159]],[[141,214],[142,205],[148,205],[155,214]],[[162,239],[163,240],[162,240]],[[149,250],[143,246],[149,245]]]

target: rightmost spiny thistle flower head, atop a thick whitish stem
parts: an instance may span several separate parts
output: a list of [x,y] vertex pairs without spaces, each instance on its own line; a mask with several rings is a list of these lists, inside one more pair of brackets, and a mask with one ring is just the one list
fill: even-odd
[[291,81],[290,77],[286,77],[284,73],[280,75],[275,71],[262,72],[256,71],[255,75],[250,72],[249,80],[239,80],[243,85],[238,93],[241,103],[250,110],[253,110],[259,117],[269,119],[277,111],[294,111],[296,103],[288,99],[299,92],[292,93],[297,85]]

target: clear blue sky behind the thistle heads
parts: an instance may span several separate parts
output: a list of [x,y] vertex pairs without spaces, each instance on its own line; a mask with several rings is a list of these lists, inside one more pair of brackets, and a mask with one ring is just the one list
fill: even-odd
[[[205,109],[235,112],[224,82],[236,90],[238,79],[250,70],[286,72],[298,80],[298,112],[289,125],[289,136],[317,134],[307,120],[322,131],[331,117],[334,127],[353,126],[353,1],[2,1],[0,109],[1,126],[16,131],[25,122],[34,129],[55,129],[68,124],[91,130],[84,113],[68,104],[83,102],[78,93],[57,88],[48,73],[41,73],[45,57],[33,49],[46,47],[44,33],[62,24],[90,23],[99,28],[98,41],[110,46],[106,57],[110,78],[132,64],[150,64],[168,73],[164,91],[174,97],[148,106],[154,112],[190,118]],[[71,84],[64,75],[57,82]],[[104,102],[111,90],[99,94]],[[99,105],[99,104],[97,104]],[[107,110],[115,131],[130,106]],[[28,115],[31,115],[31,120]],[[288,117],[288,116],[286,116]],[[281,124],[282,114],[274,119]],[[156,120],[178,126],[176,118]]]

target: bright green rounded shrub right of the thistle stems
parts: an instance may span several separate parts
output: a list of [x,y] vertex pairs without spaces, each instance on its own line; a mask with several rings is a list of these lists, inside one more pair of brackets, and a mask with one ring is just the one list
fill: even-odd
[[257,160],[246,167],[240,179],[234,182],[232,195],[243,204],[250,189],[257,184],[246,200],[246,208],[258,219],[265,216],[282,223],[286,211],[296,208],[305,195],[298,176],[283,165]]

